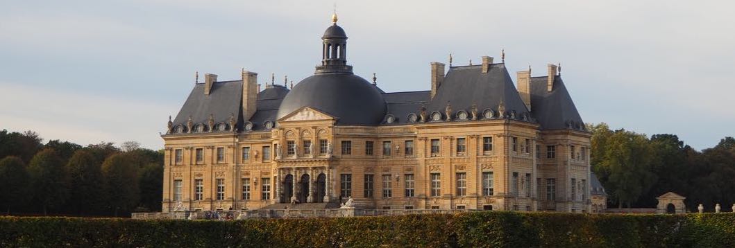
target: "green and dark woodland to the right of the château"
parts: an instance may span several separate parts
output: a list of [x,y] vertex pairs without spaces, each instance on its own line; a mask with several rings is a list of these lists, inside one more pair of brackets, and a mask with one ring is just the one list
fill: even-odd
[[728,136],[701,152],[674,134],[646,136],[608,125],[592,131],[592,171],[609,194],[609,207],[655,208],[656,197],[675,192],[689,211],[714,211],[735,203],[735,139]]

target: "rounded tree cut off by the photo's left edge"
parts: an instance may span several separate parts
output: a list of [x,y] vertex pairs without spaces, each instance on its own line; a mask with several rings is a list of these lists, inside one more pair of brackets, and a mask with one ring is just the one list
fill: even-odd
[[28,196],[28,172],[21,158],[8,156],[0,160],[0,206],[10,214],[11,208],[22,206]]

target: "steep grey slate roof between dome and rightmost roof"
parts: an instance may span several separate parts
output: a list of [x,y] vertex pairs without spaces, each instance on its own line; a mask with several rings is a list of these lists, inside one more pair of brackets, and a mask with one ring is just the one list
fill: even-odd
[[470,112],[473,103],[477,104],[479,113],[484,109],[497,112],[501,101],[507,113],[528,112],[505,64],[490,65],[487,73],[482,73],[481,65],[457,66],[449,69],[437,95],[426,106],[426,112],[438,111],[443,114],[448,102],[454,113],[459,110]]

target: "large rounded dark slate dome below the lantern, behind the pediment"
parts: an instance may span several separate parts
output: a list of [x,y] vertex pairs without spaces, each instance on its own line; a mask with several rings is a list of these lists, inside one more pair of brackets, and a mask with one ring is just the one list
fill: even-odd
[[316,74],[302,80],[283,99],[277,119],[304,106],[337,117],[340,125],[380,124],[387,108],[377,87],[352,73]]

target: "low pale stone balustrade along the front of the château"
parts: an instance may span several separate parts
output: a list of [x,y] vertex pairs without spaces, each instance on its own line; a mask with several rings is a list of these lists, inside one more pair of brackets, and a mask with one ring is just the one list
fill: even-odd
[[268,219],[348,216],[391,216],[408,214],[459,214],[474,209],[257,209],[243,211],[175,211],[169,213],[133,213],[132,219]]

